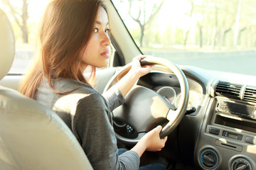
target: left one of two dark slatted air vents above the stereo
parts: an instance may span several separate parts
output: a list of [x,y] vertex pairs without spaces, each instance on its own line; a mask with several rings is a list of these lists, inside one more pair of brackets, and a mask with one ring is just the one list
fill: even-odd
[[218,81],[215,88],[215,93],[218,96],[240,99],[241,84],[232,84],[226,81]]

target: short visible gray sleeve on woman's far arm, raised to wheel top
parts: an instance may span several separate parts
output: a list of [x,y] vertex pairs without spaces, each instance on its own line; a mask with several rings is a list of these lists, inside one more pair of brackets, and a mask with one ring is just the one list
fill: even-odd
[[105,91],[102,96],[104,96],[105,100],[107,101],[111,112],[114,111],[114,108],[117,108],[125,102],[121,91],[119,91],[119,89],[117,89],[115,86],[112,86],[112,88]]

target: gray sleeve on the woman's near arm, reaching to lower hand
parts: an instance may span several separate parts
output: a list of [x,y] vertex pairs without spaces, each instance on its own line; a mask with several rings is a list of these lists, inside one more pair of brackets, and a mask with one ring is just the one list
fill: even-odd
[[93,169],[139,169],[139,155],[133,151],[118,156],[114,129],[101,94],[90,94],[78,102],[74,130]]

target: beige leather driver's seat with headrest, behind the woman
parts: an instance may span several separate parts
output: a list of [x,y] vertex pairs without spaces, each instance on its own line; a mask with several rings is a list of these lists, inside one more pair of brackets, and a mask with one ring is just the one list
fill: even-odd
[[[0,79],[14,59],[14,34],[0,9]],[[48,108],[0,86],[0,169],[92,169],[68,126]]]

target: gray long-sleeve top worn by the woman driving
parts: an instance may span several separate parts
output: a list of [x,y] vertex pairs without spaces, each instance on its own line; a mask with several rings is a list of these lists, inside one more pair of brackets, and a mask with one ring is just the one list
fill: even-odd
[[39,86],[36,100],[51,108],[73,131],[93,169],[139,169],[139,155],[127,151],[118,156],[117,139],[112,126],[112,113],[124,103],[118,89],[108,91],[103,97],[92,86],[73,79],[53,81],[55,94],[47,82]]

